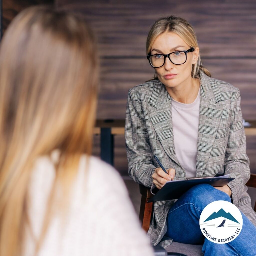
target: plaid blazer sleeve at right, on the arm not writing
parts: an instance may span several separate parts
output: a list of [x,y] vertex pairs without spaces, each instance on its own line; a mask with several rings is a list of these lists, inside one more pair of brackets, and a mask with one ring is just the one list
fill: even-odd
[[231,125],[224,164],[225,174],[230,174],[231,178],[235,178],[227,184],[231,189],[234,205],[242,197],[245,185],[250,179],[249,158],[246,154],[246,136],[240,102],[241,95],[237,89],[231,101]]

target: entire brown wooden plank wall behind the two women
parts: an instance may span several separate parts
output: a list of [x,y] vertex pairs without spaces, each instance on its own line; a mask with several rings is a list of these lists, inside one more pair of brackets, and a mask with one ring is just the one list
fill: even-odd
[[[212,77],[240,89],[244,119],[256,120],[255,1],[55,0],[55,4],[60,9],[82,13],[98,37],[101,57],[98,119],[125,118],[128,90],[154,76],[145,58],[150,26],[161,16],[176,15],[194,26],[202,62]],[[250,136],[247,141],[251,169],[256,173],[256,138]],[[95,136],[94,154],[99,152],[99,136]],[[127,175],[122,135],[115,138],[115,167]]]

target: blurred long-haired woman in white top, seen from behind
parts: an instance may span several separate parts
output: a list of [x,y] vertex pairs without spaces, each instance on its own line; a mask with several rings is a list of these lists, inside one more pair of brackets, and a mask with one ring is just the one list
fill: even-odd
[[96,52],[82,20],[46,7],[24,10],[4,35],[1,256],[152,255],[122,179],[90,156]]

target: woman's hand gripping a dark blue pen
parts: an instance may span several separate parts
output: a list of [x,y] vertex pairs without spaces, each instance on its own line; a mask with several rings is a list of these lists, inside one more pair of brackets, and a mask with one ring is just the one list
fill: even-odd
[[166,169],[160,163],[159,159],[156,156],[154,156],[154,158],[156,159],[157,163],[161,168],[155,169],[155,172],[152,175],[153,183],[158,189],[161,189],[166,184],[166,182],[174,179],[175,169],[170,168],[166,171]]

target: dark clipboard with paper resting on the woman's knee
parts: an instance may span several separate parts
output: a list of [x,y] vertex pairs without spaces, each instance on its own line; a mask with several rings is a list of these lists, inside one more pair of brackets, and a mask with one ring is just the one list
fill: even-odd
[[227,185],[234,178],[229,178],[229,174],[224,176],[206,176],[193,177],[186,180],[171,180],[168,181],[153,197],[147,202],[167,201],[172,199],[179,199],[190,188],[199,184],[209,184],[213,187],[223,187]]

